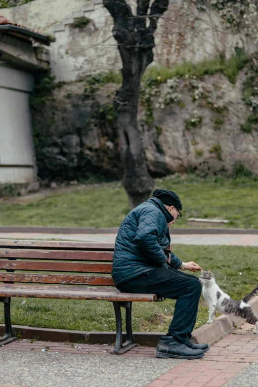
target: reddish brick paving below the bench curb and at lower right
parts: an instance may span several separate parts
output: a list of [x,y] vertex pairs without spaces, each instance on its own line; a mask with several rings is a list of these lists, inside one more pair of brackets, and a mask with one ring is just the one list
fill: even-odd
[[[221,387],[245,369],[250,363],[258,363],[258,335],[254,326],[245,323],[241,329],[212,345],[201,359],[185,360],[161,375],[146,387]],[[48,351],[80,353],[86,355],[111,355],[112,345],[30,342],[17,340],[0,346],[0,350]],[[156,348],[136,346],[123,357],[155,357]],[[169,360],[164,360],[169,361]],[[0,387],[7,387],[0,385]],[[8,386],[9,387],[9,386]],[[11,386],[19,387],[19,386]]]

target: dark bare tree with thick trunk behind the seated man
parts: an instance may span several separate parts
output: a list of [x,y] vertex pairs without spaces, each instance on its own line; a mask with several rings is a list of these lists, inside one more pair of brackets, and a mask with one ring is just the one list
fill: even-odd
[[114,106],[118,114],[120,152],[125,172],[123,185],[133,208],[147,200],[154,187],[148,172],[138,125],[139,88],[146,67],[153,61],[154,32],[169,0],[137,0],[136,15],[126,0],[103,0],[114,20],[113,35],[118,43],[123,83]]

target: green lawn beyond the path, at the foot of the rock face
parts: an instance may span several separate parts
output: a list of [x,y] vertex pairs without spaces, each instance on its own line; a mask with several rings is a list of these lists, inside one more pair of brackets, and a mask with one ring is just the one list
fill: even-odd
[[[258,228],[258,181],[253,178],[156,179],[156,188],[175,191],[180,197],[182,218],[176,227],[189,227],[188,217],[228,219],[227,227]],[[56,225],[116,227],[128,213],[128,198],[121,183],[101,183],[85,190],[54,194],[29,204],[0,203],[0,225]]]

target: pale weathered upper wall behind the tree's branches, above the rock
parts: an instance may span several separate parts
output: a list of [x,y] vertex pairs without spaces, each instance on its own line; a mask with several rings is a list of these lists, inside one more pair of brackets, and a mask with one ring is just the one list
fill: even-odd
[[[135,0],[129,1],[135,11]],[[24,5],[3,8],[0,13],[12,21],[54,34],[50,57],[56,82],[73,82],[87,74],[121,68],[117,45],[112,37],[112,18],[102,0],[34,0]],[[73,28],[81,16],[89,19],[84,28]],[[216,10],[198,11],[193,2],[172,0],[159,22],[155,34],[153,64],[198,63],[213,59],[220,52],[229,57],[234,47],[256,51],[256,45],[245,34],[223,27]]]

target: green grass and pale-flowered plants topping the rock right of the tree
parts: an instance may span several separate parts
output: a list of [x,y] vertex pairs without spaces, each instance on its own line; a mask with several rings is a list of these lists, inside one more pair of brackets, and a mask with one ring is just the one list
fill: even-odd
[[[197,65],[183,63],[171,69],[162,66],[155,68],[153,66],[149,72],[147,70],[140,88],[139,102],[146,109],[145,124],[149,127],[154,125],[153,104],[155,100],[157,100],[155,107],[158,109],[165,109],[166,106],[172,105],[173,103],[177,103],[180,108],[183,108],[184,104],[181,101],[180,91],[186,87],[192,96],[193,102],[203,100],[207,107],[215,112],[214,129],[220,129],[224,123],[223,117],[227,113],[228,108],[221,104],[219,96],[215,95],[214,86],[204,82],[204,77],[205,75],[213,75],[221,72],[234,84],[239,71],[249,61],[250,59],[245,50],[235,47],[235,54],[228,60],[226,60],[224,53],[221,53],[217,59],[204,61]],[[193,113],[193,117],[185,120],[185,129],[187,130],[196,128],[202,124],[202,117],[195,111]]]

